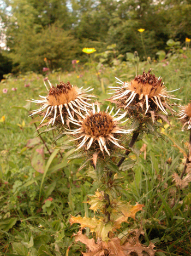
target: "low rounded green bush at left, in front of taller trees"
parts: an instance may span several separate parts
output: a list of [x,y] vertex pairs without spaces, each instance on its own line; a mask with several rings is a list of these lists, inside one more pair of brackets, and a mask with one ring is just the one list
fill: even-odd
[[40,72],[45,66],[44,58],[49,61],[51,70],[59,67],[68,70],[76,52],[77,40],[61,27],[51,25],[39,33],[32,29],[23,31],[22,36],[17,37],[10,56],[20,70]]

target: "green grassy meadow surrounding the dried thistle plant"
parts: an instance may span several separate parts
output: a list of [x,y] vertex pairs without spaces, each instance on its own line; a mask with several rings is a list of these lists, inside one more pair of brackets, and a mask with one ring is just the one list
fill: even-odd
[[[174,94],[183,99],[181,104],[188,103],[191,96],[191,54],[187,51],[185,55],[188,58],[178,53],[172,55],[166,66],[163,66],[165,62],[140,62],[137,72],[152,67],[156,76],[163,77],[168,90],[181,88]],[[79,66],[78,71],[71,73],[55,72],[49,75],[49,79],[53,84],[60,79],[69,80],[79,87],[91,86],[98,100],[104,103],[104,99],[109,98],[106,89],[115,84],[115,76],[122,81],[135,76],[133,62],[101,68],[96,63],[93,65],[84,69]],[[96,75],[99,69],[102,71]],[[79,75],[82,77],[77,78]],[[28,83],[30,86],[25,87]],[[17,87],[16,92],[11,90],[12,87]],[[7,94],[2,93],[3,88],[8,89]],[[38,125],[40,119],[28,117],[28,111],[35,106],[26,100],[38,99],[38,95],[46,95],[46,89],[43,76],[35,73],[8,76],[0,83],[0,120],[5,117],[5,121],[0,122],[0,255],[65,255],[74,241],[73,233],[79,230],[77,224],[70,226],[70,214],[93,217],[87,203],[82,202],[87,201],[87,194],[94,194],[97,183],[87,176],[86,168],[79,171],[82,160],[68,163],[72,150],[61,150],[61,157],[52,149],[55,147],[52,139],[56,135],[52,132],[41,134],[51,155],[39,139],[32,140],[34,145],[27,146],[28,141],[38,135],[34,122]],[[102,107],[105,109],[106,106]],[[123,224],[119,236],[142,224],[145,231],[142,243],[156,242],[156,249],[160,250],[156,255],[159,256],[189,255],[191,252],[191,186],[189,184],[181,190],[173,182],[172,175],[174,172],[181,174],[184,160],[182,151],[169,139],[169,135],[172,136],[187,151],[188,133],[181,132],[176,117],[170,117],[170,122],[172,128],[166,127],[168,136],[164,135],[165,140],[145,135],[136,143],[137,149],[146,144],[146,159],[142,152],[133,169],[122,173],[123,200],[132,204],[138,202],[145,207],[136,214],[135,221],[132,219]],[[67,137],[57,143],[68,143]],[[35,150],[39,148],[44,152],[41,157],[44,174],[37,172],[31,163],[36,157]],[[133,153],[130,157],[135,160]],[[82,250],[82,245],[73,244],[69,255],[81,255]]]

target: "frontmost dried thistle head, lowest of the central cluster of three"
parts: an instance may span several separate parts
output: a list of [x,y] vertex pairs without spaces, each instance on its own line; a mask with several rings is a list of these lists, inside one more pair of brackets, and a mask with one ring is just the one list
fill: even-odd
[[[71,123],[74,123],[76,126],[80,126],[79,129],[72,130],[72,132],[71,130],[66,132],[66,134],[77,136],[77,138],[74,139],[79,142],[76,150],[81,149],[81,147],[85,145],[86,150],[101,150],[104,153],[105,149],[108,155],[110,155],[108,149],[112,149],[112,144],[120,147],[120,149],[124,149],[124,147],[117,142],[117,140],[120,139],[115,138],[114,135],[127,134],[132,131],[122,129],[118,126],[118,124],[125,122],[121,122],[120,120],[126,116],[127,112],[124,112],[123,115],[119,117],[115,117],[120,110],[118,110],[115,115],[112,116],[111,113],[114,107],[109,113],[108,109],[109,106],[105,112],[101,112],[99,103],[97,103],[96,111],[95,104],[92,104],[92,109],[86,109],[85,115],[81,114],[82,120],[73,120],[71,117],[69,117]],[[110,143],[112,144],[110,145]]]

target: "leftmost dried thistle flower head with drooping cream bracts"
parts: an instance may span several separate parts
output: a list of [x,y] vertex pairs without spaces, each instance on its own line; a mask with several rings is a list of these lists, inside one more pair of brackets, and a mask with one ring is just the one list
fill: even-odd
[[[41,105],[38,110],[33,110],[31,116],[40,115],[44,116],[41,123],[45,120],[49,120],[47,123],[50,124],[61,123],[68,121],[68,115],[73,118],[74,113],[79,114],[79,110],[85,111],[85,107],[91,107],[87,101],[91,100],[89,98],[95,97],[93,95],[86,94],[93,89],[83,89],[83,87],[78,88],[77,86],[71,86],[70,82],[67,83],[60,82],[54,87],[48,80],[50,89],[47,88],[46,83],[44,85],[49,92],[47,96],[40,96],[43,100],[28,100],[32,103],[37,103]],[[40,124],[41,124],[40,123]]]

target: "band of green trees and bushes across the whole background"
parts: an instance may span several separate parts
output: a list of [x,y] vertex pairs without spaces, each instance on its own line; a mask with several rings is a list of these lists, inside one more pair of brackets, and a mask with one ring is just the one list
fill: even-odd
[[40,71],[44,58],[52,69],[69,69],[83,47],[99,52],[116,44],[120,54],[144,57],[165,49],[168,39],[191,36],[191,1],[154,0],[4,0],[3,33],[16,69]]

